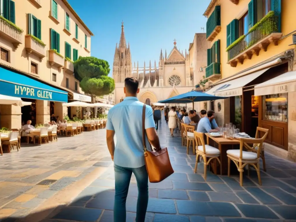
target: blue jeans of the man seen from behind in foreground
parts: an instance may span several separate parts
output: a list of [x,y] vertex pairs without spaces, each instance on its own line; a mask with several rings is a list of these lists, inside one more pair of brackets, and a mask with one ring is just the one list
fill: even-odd
[[131,181],[131,174],[136,176],[138,186],[138,201],[136,222],[144,222],[148,205],[148,173],[146,166],[139,168],[120,167],[114,164],[115,201],[114,222],[126,222],[126,197]]

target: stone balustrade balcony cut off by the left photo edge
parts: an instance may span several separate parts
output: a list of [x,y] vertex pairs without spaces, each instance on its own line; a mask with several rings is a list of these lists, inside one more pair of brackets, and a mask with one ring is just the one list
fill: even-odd
[[6,20],[4,17],[0,16],[0,36],[1,38],[5,38],[7,41],[11,42],[14,49],[22,44],[22,33],[23,30],[18,28],[12,22]]

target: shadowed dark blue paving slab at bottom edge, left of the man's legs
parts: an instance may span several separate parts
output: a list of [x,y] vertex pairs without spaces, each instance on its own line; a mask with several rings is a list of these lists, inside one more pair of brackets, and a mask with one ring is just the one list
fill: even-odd
[[99,209],[89,209],[84,207],[65,207],[53,218],[72,221],[97,221],[101,213],[102,210]]

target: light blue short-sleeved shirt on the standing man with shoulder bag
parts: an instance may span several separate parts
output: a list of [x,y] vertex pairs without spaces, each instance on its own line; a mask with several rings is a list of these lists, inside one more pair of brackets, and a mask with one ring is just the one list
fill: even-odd
[[[136,97],[126,97],[108,112],[107,130],[115,131],[114,163],[121,167],[138,168],[145,165],[142,141],[142,111],[144,103]],[[145,129],[155,128],[151,106],[146,105]],[[146,136],[146,146],[149,147]]]

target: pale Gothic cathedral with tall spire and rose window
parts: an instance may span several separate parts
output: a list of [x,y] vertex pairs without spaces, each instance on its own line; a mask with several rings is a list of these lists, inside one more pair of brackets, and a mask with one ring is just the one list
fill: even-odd
[[[176,40],[170,53],[160,49],[158,64],[154,61],[149,66],[139,67],[139,62],[132,64],[130,44],[126,44],[123,22],[119,44],[116,43],[113,78],[115,81],[115,103],[124,99],[124,79],[135,77],[139,80],[140,92],[138,99],[146,104],[168,99],[170,97],[191,91],[193,86],[193,69],[190,65],[189,53],[185,54],[176,46]],[[181,104],[180,104],[181,105]]]

